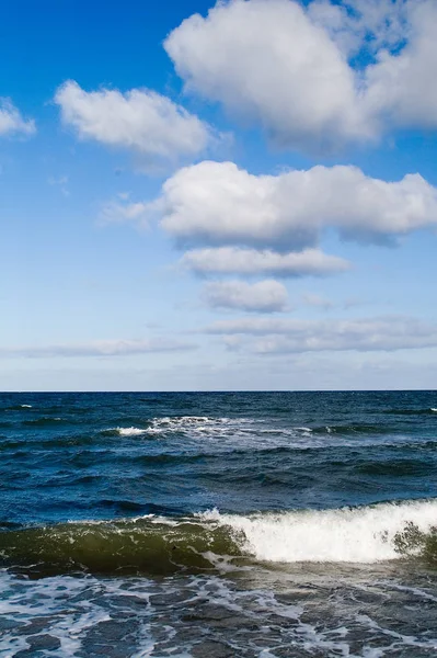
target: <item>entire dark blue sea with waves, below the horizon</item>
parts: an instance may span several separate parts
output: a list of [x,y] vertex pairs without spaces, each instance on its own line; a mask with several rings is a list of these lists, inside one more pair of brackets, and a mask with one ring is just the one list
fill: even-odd
[[437,655],[437,392],[0,395],[0,656]]

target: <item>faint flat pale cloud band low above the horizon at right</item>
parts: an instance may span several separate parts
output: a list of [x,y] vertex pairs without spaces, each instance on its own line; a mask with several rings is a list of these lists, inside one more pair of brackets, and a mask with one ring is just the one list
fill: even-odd
[[220,320],[206,333],[249,337],[260,354],[348,351],[373,352],[437,347],[437,325],[409,317],[358,320],[243,318]]

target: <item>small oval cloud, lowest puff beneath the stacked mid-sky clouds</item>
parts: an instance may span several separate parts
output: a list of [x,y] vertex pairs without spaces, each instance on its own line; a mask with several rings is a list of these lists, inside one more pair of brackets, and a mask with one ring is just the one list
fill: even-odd
[[211,308],[273,313],[287,307],[287,288],[277,281],[267,280],[249,284],[244,281],[208,283],[204,299]]

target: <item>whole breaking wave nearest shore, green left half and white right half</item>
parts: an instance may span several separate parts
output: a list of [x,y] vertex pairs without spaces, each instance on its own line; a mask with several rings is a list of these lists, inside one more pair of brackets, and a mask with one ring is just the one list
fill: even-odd
[[5,566],[27,565],[43,574],[164,575],[254,563],[371,564],[404,556],[437,561],[436,514],[437,500],[250,515],[218,510],[185,518],[149,514],[0,532],[0,555]]

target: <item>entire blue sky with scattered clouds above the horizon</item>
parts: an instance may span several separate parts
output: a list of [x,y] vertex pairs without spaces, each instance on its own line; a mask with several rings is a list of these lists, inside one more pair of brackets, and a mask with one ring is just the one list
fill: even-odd
[[0,389],[435,388],[434,0],[8,0]]

